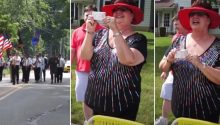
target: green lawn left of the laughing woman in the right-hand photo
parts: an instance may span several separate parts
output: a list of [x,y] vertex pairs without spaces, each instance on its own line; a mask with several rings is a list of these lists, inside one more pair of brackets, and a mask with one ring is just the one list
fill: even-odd
[[[155,38],[155,117],[161,116],[162,99],[160,98],[160,91],[163,81],[160,79],[161,70],[158,68],[159,62],[162,59],[166,49],[171,44],[171,37],[156,37]],[[169,120],[174,119],[170,113]],[[171,122],[170,122],[171,123]]]

